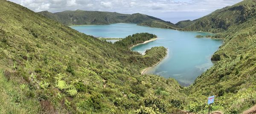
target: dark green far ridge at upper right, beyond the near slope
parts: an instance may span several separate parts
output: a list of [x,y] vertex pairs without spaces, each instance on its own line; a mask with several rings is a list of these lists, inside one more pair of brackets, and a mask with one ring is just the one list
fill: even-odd
[[255,0],[244,0],[241,3],[218,9],[207,16],[199,18],[195,23],[183,28],[183,30],[224,32],[230,26],[237,26],[253,17],[256,14],[255,7]]

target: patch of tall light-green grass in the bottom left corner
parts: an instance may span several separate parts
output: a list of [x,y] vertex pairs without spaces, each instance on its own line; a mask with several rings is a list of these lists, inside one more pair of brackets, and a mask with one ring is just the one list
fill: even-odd
[[8,81],[0,70],[0,113],[1,114],[38,114],[41,111],[39,102],[26,99],[20,91],[20,85]]

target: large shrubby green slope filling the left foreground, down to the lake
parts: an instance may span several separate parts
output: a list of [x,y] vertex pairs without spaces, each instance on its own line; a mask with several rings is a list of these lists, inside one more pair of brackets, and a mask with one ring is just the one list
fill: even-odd
[[6,0],[0,15],[1,114],[171,113],[184,100],[177,81],[140,75],[164,47],[143,56]]

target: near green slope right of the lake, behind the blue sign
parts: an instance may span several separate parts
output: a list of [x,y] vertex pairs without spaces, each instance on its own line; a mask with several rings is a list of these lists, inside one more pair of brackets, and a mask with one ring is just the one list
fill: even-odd
[[[238,15],[236,19],[230,19],[229,23],[233,24],[227,27],[227,30],[221,28],[224,32],[219,35],[226,36],[224,45],[212,57],[219,61],[187,88],[189,97],[198,97],[192,98],[194,102],[188,106],[190,111],[203,110],[201,113],[205,113],[207,105],[204,96],[210,95],[216,96],[215,103],[212,105],[213,110],[221,110],[225,114],[238,114],[256,104],[255,6],[255,0],[244,0],[234,6],[215,11],[210,14],[212,17],[207,16],[214,19],[213,14],[218,12],[219,16],[222,16],[222,14],[231,13],[231,9],[237,13],[248,12],[246,16],[243,14]],[[236,13],[233,14],[236,15]],[[204,27],[212,26],[211,23],[208,24]]]

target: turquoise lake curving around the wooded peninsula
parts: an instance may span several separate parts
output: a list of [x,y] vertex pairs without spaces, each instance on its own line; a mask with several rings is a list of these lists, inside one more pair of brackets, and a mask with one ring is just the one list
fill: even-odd
[[223,43],[223,40],[195,37],[196,35],[211,35],[209,33],[151,28],[136,24],[118,23],[71,26],[71,28],[94,37],[125,38],[128,35],[141,32],[156,34],[157,40],[138,45],[132,50],[144,54],[147,49],[155,46],[168,48],[167,57],[157,66],[148,68],[145,74],[156,74],[165,78],[172,77],[183,86],[191,85],[198,76],[213,66],[210,58]]

